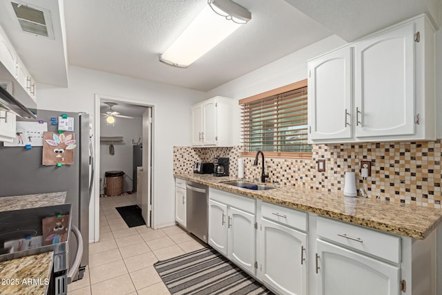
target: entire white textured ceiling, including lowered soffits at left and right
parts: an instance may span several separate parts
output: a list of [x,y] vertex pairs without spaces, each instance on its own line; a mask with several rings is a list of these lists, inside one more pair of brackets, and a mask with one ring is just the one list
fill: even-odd
[[67,87],[71,64],[209,91],[332,34],[353,41],[423,12],[438,26],[442,0],[234,0],[251,21],[186,69],[158,55],[206,0],[25,1],[50,10],[54,40],[22,32],[8,0],[0,25],[37,86]]

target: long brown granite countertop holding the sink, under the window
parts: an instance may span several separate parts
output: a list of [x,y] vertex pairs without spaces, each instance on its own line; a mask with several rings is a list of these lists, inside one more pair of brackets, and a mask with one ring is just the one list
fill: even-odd
[[[338,196],[336,193],[289,186],[276,186],[277,189],[268,191],[253,191],[222,183],[238,178],[214,177],[211,174],[177,173],[174,176],[230,193],[419,240],[425,239],[442,223],[441,209],[394,204],[370,198],[349,198]],[[272,186],[272,184],[266,185]]]

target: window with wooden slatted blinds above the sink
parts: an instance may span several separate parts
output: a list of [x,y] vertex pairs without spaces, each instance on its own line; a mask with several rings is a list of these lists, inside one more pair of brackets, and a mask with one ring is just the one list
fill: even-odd
[[246,155],[311,158],[307,144],[307,79],[240,100]]

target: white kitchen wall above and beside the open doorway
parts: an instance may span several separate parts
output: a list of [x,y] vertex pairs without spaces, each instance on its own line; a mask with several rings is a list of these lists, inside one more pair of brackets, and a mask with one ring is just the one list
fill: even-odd
[[[154,106],[153,226],[164,227],[174,224],[173,146],[191,144],[189,135],[191,105],[204,99],[205,94],[70,66],[69,87],[57,88],[40,84],[37,89],[38,105],[39,108],[48,110],[83,111],[94,114],[95,93],[124,97],[133,102]],[[94,198],[97,204],[99,196]],[[91,204],[91,214],[95,209]],[[94,217],[91,216],[90,224],[95,222]],[[93,240],[95,236],[97,235],[91,228],[90,239]]]

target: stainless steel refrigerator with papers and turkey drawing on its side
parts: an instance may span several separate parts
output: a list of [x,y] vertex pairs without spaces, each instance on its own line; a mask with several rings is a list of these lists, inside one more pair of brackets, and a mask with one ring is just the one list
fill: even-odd
[[[37,119],[48,124],[48,131],[57,131],[51,118],[62,114],[74,118],[74,133],[77,146],[72,165],[42,165],[42,146],[3,146],[0,144],[0,197],[67,191],[66,203],[72,204],[72,225],[78,227],[83,238],[83,256],[79,271],[72,280],[82,278],[89,256],[89,203],[93,184],[93,149],[90,138],[90,119],[86,113],[64,111],[37,111]],[[52,119],[53,120],[53,119]],[[23,120],[24,121],[24,120]],[[30,122],[30,120],[26,120]],[[77,252],[77,239],[70,235],[69,258],[72,266]],[[72,268],[72,267],[71,267]],[[68,278],[68,280],[70,280]]]

